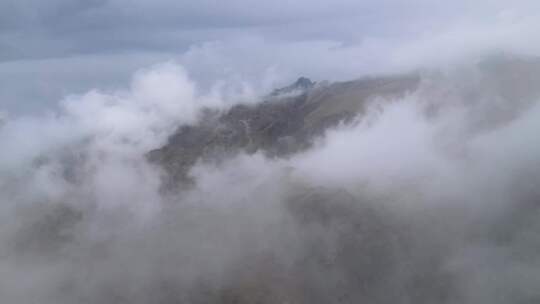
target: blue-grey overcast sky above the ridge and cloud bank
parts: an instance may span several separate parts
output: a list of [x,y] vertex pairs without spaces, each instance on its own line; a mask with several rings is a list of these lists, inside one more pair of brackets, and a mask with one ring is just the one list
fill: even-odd
[[490,50],[540,54],[539,11],[534,0],[0,0],[0,111],[116,88],[168,60],[201,86],[264,90]]

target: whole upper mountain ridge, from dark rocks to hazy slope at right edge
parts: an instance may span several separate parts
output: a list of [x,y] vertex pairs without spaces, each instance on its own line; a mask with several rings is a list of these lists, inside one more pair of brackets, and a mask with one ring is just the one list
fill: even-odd
[[361,115],[371,101],[396,99],[420,87],[430,99],[448,99],[439,95],[452,87],[457,87],[452,94],[459,95],[454,97],[462,101],[492,99],[486,123],[510,119],[522,108],[518,105],[540,96],[538,58],[490,56],[453,73],[457,76],[422,71],[330,84],[301,77],[274,90],[263,102],[239,104],[225,112],[205,110],[198,124],[180,126],[149,158],[162,164],[173,181],[186,181],[189,169],[201,158],[224,157],[239,150],[284,157],[306,150],[328,128]]

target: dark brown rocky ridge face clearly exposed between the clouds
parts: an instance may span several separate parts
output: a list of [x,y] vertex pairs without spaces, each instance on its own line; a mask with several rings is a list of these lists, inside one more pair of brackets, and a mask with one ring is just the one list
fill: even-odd
[[418,75],[362,79],[314,86],[300,78],[276,92],[302,89],[297,96],[277,95],[256,105],[237,105],[225,113],[208,110],[200,123],[181,126],[169,143],[152,151],[150,159],[162,163],[173,180],[186,180],[187,171],[200,158],[243,150],[286,156],[310,147],[317,136],[361,113],[374,97],[400,96],[415,90]]

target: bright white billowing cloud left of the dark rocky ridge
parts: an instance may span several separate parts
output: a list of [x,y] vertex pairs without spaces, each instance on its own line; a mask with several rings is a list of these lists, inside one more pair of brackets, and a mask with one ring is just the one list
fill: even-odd
[[[179,122],[193,123],[202,107],[219,107],[218,97],[199,95],[182,68],[161,64],[135,74],[127,91],[90,91],[64,99],[59,113],[7,120],[1,130],[0,161],[6,168],[18,168],[41,153],[87,138],[97,150],[125,149],[141,157],[163,144]],[[37,129],[39,136],[34,134]]]

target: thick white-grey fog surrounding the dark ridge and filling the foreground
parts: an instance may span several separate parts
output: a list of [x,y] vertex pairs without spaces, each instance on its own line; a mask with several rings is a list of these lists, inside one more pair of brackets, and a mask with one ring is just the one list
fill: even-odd
[[471,98],[492,91],[474,73],[427,73],[286,158],[201,160],[172,192],[147,153],[228,106],[180,66],[6,116],[0,298],[533,303],[540,104]]

